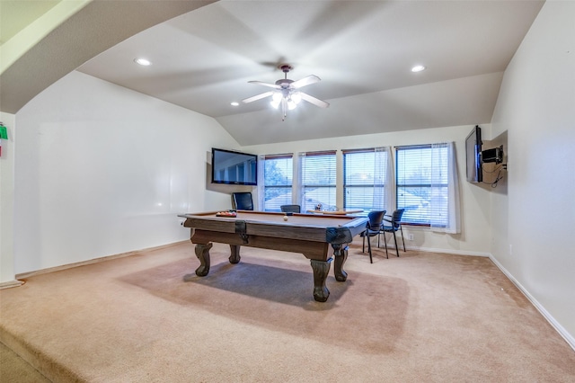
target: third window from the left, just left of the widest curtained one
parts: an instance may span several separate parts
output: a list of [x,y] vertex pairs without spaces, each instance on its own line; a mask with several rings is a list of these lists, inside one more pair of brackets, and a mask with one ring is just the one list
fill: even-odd
[[[384,148],[343,151],[343,208],[387,209],[388,151]],[[387,209],[389,210],[389,209]]]

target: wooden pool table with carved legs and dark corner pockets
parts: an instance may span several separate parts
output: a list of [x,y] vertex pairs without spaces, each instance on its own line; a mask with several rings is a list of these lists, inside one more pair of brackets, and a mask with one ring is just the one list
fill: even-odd
[[240,262],[241,246],[300,253],[311,262],[314,299],[319,302],[330,296],[325,280],[333,258],[335,279],[346,281],[348,275],[343,263],[348,257],[348,244],[367,226],[367,218],[363,217],[252,210],[237,210],[235,217],[218,217],[216,211],[179,217],[186,218],[183,226],[190,227],[190,240],[196,245],[200,263],[196,275],[208,275],[212,242],[230,245],[230,263]]

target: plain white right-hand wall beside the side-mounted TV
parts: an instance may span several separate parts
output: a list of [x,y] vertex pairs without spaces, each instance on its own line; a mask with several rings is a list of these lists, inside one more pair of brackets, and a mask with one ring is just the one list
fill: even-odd
[[575,347],[575,2],[544,4],[505,72],[492,129],[509,139],[493,256]]

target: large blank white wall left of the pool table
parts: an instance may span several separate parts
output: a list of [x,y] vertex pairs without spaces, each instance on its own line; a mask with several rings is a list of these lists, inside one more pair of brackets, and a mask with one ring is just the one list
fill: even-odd
[[194,111],[72,72],[16,123],[16,274],[185,240],[177,214],[231,206],[207,155],[238,144]]

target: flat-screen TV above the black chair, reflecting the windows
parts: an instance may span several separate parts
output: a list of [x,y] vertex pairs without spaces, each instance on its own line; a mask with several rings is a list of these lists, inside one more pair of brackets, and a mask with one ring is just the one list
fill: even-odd
[[212,183],[258,184],[258,156],[212,147]]

